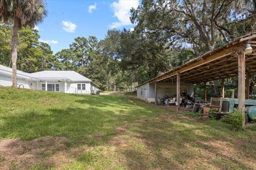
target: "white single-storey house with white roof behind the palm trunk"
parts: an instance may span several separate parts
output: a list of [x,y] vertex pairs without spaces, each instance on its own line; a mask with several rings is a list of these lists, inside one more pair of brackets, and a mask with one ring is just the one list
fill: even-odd
[[[12,69],[0,65],[0,85],[12,86]],[[17,70],[19,88],[56,91],[68,94],[98,94],[99,86],[75,71],[41,71],[26,73]]]

